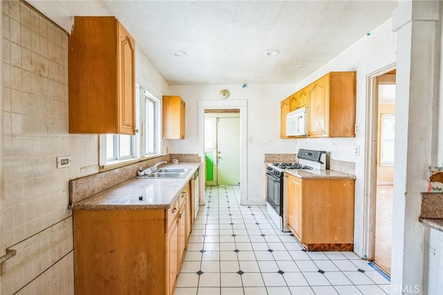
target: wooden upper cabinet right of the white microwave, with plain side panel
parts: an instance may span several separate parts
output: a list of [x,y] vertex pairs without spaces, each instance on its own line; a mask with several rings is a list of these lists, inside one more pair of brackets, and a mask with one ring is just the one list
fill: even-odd
[[309,137],[354,137],[356,72],[331,72],[309,84]]

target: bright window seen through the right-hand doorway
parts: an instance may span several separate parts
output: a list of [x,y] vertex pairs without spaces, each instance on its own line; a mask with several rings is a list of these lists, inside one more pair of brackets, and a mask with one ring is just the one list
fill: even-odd
[[395,115],[381,115],[380,166],[394,165]]

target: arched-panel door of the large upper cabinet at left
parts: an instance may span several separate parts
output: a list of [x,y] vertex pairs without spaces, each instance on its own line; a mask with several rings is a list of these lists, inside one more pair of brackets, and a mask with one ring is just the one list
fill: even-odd
[[135,43],[120,23],[118,38],[118,131],[120,134],[134,134]]

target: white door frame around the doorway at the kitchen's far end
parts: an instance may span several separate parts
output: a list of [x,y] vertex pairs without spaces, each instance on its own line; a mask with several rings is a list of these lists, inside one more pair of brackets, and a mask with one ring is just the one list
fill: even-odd
[[[240,204],[248,200],[248,100],[199,100],[197,102],[197,129],[199,137],[199,156],[205,159],[205,109],[239,109],[240,110]],[[202,166],[206,175],[206,168]],[[202,191],[205,183],[201,182]],[[201,201],[204,204],[204,194]],[[202,204],[201,204],[202,205]]]

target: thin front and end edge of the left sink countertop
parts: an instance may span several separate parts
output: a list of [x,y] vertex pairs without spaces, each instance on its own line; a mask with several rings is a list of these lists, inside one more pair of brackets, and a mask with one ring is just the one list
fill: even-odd
[[[80,202],[75,202],[69,204],[68,208],[72,211],[99,211],[99,210],[168,210],[172,204],[177,200],[183,188],[186,187],[186,184],[189,183],[190,179],[194,176],[197,169],[201,168],[201,162],[181,162],[190,163],[190,165],[195,165],[192,170],[188,173],[186,177],[183,178],[183,186],[177,186],[177,193],[175,193],[174,197],[172,197],[171,202],[169,204],[82,204],[84,200],[92,198],[94,195],[83,199]],[[135,179],[134,176],[132,179]],[[127,181],[131,181],[132,179],[128,179]],[[177,180],[177,179],[176,179]],[[101,192],[99,192],[101,193]],[[96,195],[96,194],[95,194]]]

